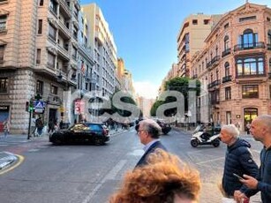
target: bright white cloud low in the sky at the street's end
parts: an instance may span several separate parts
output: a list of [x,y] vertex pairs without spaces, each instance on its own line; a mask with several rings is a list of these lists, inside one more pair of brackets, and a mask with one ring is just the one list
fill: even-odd
[[134,82],[133,86],[136,93],[146,99],[155,99],[158,96],[159,85],[155,85],[150,81]]

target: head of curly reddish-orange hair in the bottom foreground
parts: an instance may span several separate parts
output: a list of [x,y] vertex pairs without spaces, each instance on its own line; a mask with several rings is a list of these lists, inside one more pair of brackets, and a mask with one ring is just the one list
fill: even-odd
[[156,149],[147,165],[126,174],[110,203],[194,203],[200,191],[199,171],[177,155]]

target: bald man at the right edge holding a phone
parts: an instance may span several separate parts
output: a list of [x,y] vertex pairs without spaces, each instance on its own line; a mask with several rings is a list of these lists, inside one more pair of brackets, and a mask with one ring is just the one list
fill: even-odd
[[250,132],[253,138],[263,144],[260,152],[260,171],[256,178],[244,175],[241,180],[249,189],[235,195],[237,203],[256,192],[261,193],[262,203],[271,202],[271,116],[263,115],[253,119]]

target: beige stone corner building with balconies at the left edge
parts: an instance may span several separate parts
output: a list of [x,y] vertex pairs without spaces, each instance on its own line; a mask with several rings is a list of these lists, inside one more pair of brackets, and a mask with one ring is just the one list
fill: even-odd
[[32,117],[60,120],[64,91],[77,88],[79,10],[79,0],[1,1],[0,117],[11,133],[27,132],[37,94],[46,106]]

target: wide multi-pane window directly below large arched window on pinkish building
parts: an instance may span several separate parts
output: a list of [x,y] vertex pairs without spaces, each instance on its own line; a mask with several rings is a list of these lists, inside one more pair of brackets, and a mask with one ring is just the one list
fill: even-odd
[[237,76],[260,74],[264,74],[263,56],[237,59]]

